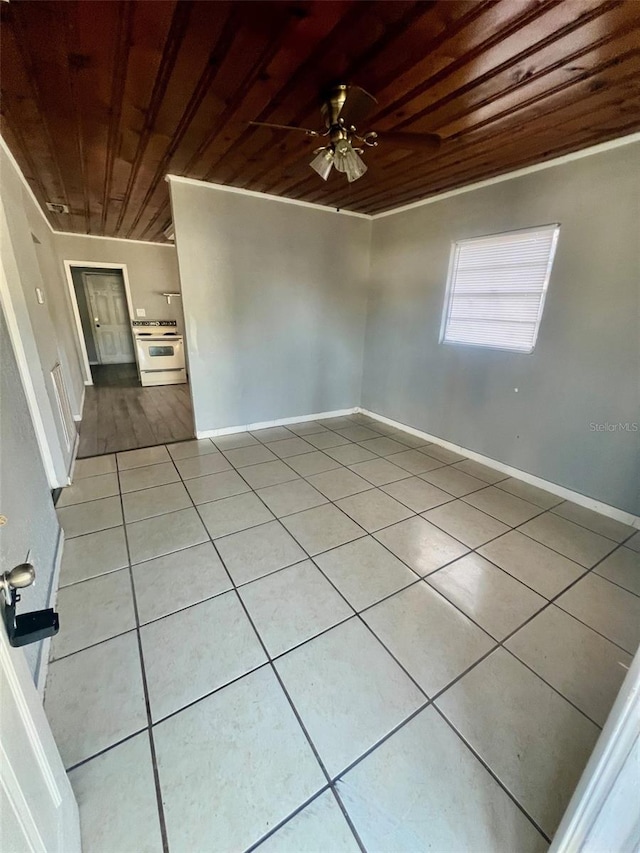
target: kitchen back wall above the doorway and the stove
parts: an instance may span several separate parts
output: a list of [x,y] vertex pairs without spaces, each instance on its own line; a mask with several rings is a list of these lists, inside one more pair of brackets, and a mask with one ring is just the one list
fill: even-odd
[[86,266],[91,263],[126,264],[134,312],[136,308],[144,308],[147,320],[177,320],[179,331],[184,331],[181,300],[172,299],[168,305],[162,296],[163,293],[180,292],[173,246],[102,240],[81,234],[56,234],[55,243],[61,267],[63,261],[85,261]]

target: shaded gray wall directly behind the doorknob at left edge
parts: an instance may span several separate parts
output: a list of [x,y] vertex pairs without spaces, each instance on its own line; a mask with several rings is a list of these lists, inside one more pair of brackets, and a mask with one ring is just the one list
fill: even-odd
[[[59,526],[27,408],[22,381],[0,307],[0,567],[7,571],[30,560],[37,583],[23,590],[22,611],[49,606]],[[41,643],[26,646],[27,663],[37,678]]]

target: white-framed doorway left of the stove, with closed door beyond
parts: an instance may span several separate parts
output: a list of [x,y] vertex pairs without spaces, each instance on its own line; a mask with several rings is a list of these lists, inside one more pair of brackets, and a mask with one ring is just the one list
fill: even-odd
[[124,269],[70,265],[69,271],[84,342],[87,383],[139,386]]

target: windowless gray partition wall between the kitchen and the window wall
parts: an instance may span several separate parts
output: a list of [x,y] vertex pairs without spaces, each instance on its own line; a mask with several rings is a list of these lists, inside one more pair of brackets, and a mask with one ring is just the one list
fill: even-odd
[[369,220],[171,181],[196,429],[358,404]]

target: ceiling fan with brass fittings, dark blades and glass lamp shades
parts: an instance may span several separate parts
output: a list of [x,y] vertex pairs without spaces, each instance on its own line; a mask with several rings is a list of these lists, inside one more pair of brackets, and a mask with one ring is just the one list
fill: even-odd
[[391,143],[400,148],[414,151],[437,151],[440,137],[435,133],[405,133],[403,131],[369,130],[358,132],[360,125],[378,102],[360,86],[341,84],[331,89],[322,102],[321,111],[326,130],[311,130],[291,124],[272,124],[268,121],[251,121],[249,124],[270,127],[274,130],[298,130],[307,136],[327,137],[326,145],[316,148],[316,156],[309,164],[323,180],[327,180],[331,169],[343,172],[349,183],[357,181],[367,171],[367,164],[360,156],[364,147],[376,148],[380,142]]

